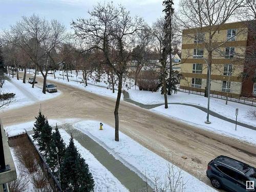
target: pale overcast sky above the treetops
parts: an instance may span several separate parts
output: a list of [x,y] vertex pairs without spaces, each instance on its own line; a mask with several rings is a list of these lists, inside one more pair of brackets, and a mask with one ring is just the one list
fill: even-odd
[[[0,30],[10,25],[23,15],[30,16],[36,13],[46,19],[57,19],[70,29],[70,22],[77,17],[88,17],[88,10],[98,0],[0,0]],[[111,2],[111,1],[105,1]],[[178,8],[179,0],[174,0]],[[160,0],[113,0],[113,3],[122,4],[131,12],[131,15],[143,17],[148,24],[162,15],[162,1]]]

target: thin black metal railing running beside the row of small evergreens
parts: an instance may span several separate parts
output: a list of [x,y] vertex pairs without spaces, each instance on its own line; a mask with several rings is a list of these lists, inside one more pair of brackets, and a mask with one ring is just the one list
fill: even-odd
[[47,175],[48,181],[49,181],[50,185],[52,186],[53,190],[56,191],[56,192],[62,192],[61,187],[59,185],[59,182],[57,181],[57,179],[55,178],[55,176],[51,172],[51,169],[47,165],[45,159],[41,156],[40,152],[38,151],[37,147],[35,146],[35,144],[32,141],[32,139],[29,137],[27,132],[26,132],[26,135],[28,137],[28,140],[34,146],[35,151],[37,152],[38,159],[39,159],[38,163],[39,163],[42,171]]

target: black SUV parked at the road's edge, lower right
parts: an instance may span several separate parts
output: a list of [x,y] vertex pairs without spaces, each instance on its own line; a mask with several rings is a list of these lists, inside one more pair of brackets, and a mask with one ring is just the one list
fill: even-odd
[[256,189],[256,169],[230,157],[219,156],[211,160],[206,175],[215,188],[236,192]]

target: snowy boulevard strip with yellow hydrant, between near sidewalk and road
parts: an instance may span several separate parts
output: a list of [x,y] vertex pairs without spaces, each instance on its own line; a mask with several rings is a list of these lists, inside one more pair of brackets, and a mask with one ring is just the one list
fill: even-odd
[[[160,177],[158,180],[159,185],[164,184],[164,180],[166,179],[164,176],[168,171],[168,161],[121,132],[119,132],[120,141],[114,141],[114,128],[103,123],[103,131],[99,131],[99,129],[97,129],[98,124],[99,122],[97,121],[87,120],[75,123],[74,127],[98,142],[110,154],[136,172],[141,178],[144,178],[146,174],[152,187],[154,187],[153,179],[155,177]],[[174,165],[174,170],[178,172],[179,169]],[[186,182],[185,191],[216,191],[214,188],[211,188],[187,172],[183,170],[181,172],[183,181]]]

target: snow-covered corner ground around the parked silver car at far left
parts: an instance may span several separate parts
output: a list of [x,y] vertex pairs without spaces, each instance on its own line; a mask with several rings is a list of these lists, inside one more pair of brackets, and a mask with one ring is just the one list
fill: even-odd
[[15,93],[15,101],[7,106],[4,110],[18,108],[20,106],[33,104],[34,102],[51,99],[61,94],[60,91],[56,93],[42,93],[41,88],[35,84],[34,89],[28,82],[23,83],[22,79],[10,78],[10,81],[6,80],[2,88],[4,93]]

